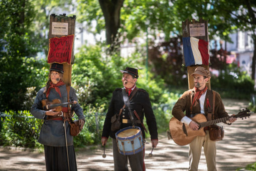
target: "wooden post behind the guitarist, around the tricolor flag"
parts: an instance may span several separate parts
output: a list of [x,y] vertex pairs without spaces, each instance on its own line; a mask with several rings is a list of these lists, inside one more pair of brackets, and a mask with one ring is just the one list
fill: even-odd
[[[204,24],[204,33],[192,33],[192,29],[190,29],[193,25],[195,26],[196,24]],[[193,34],[193,35],[192,35]],[[188,19],[182,22],[182,36],[183,37],[194,37],[196,39],[202,39],[204,41],[209,42],[209,37],[208,37],[208,21],[205,21],[203,19],[199,19],[199,21],[196,21],[195,19],[192,19],[192,21],[189,21]],[[208,44],[208,50],[209,50],[209,44]],[[210,61],[210,58],[209,58]],[[183,57],[183,63],[184,62],[184,57]],[[192,65],[187,67],[188,71],[188,88],[192,89],[194,87],[194,78],[191,76],[191,74],[195,71],[195,69],[198,67],[204,67],[209,71],[209,65]],[[207,87],[211,89],[210,85],[210,80],[207,83]]]

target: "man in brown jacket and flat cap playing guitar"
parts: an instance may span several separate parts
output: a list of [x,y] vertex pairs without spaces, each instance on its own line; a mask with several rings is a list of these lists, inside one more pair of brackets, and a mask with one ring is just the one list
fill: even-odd
[[[211,78],[210,72],[207,69],[197,67],[191,76],[194,77],[194,88],[183,93],[174,105],[172,115],[182,123],[189,125],[192,130],[198,130],[199,125],[190,118],[199,113],[204,114],[207,118],[208,109],[211,107],[209,99],[213,96],[213,91],[207,89],[206,86],[206,83]],[[184,111],[186,111],[186,114]],[[228,116],[220,95],[217,92],[214,111],[215,119]],[[231,124],[235,120],[236,118],[230,117],[228,120],[229,123],[227,124]],[[209,127],[204,127],[204,130],[206,132],[205,136],[196,136],[192,142],[189,143],[189,171],[198,169],[202,146],[204,147],[207,169],[210,171],[217,170],[216,142],[209,138]]]

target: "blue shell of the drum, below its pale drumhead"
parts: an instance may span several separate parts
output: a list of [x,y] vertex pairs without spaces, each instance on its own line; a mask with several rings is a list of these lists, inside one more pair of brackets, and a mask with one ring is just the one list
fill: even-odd
[[[138,133],[136,133],[133,136],[129,136],[129,137],[118,137],[117,135],[127,129],[139,129],[140,131]],[[142,151],[145,147],[144,145],[144,140],[143,140],[143,136],[142,136],[142,131],[141,128],[138,126],[129,126],[129,127],[125,127],[123,129],[120,129],[119,131],[117,131],[115,133],[115,138],[116,138],[116,143],[117,143],[117,147],[118,147],[118,151],[120,154],[123,155],[132,155],[132,154],[136,154],[140,151]],[[134,142],[134,144],[132,144],[132,141]],[[122,145],[123,142],[123,145]],[[133,147],[134,145],[134,147]],[[124,149],[123,149],[124,147]]]

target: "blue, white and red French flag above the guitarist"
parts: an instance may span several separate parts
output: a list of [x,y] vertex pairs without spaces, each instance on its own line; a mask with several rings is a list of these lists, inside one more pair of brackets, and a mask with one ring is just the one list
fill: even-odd
[[185,65],[209,65],[208,42],[194,37],[182,38]]

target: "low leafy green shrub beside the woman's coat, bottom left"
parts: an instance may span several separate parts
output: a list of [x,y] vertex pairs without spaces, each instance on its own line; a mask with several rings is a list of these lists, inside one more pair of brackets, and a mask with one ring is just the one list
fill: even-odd
[[42,147],[37,142],[42,122],[35,119],[29,111],[6,111],[1,117],[0,145],[23,147]]

